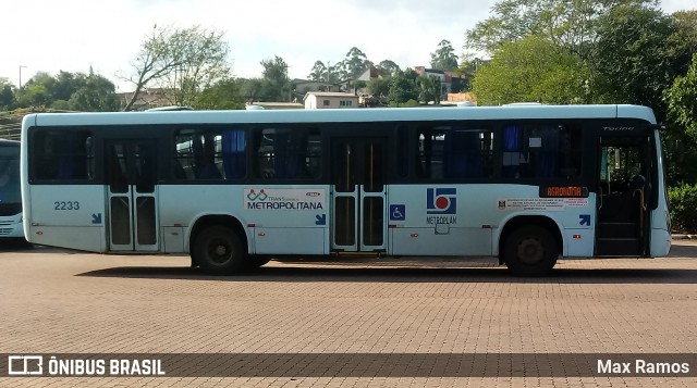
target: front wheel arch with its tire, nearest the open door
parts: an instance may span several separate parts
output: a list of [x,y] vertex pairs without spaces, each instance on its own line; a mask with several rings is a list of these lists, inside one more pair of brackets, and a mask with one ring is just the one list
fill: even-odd
[[549,274],[562,252],[557,223],[545,216],[517,216],[509,221],[499,238],[499,264],[518,276]]

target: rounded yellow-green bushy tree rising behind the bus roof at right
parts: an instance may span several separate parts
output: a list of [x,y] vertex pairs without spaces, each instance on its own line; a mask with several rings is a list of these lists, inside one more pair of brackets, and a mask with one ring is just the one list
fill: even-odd
[[480,104],[522,101],[588,102],[588,71],[578,59],[538,36],[504,43],[473,82]]

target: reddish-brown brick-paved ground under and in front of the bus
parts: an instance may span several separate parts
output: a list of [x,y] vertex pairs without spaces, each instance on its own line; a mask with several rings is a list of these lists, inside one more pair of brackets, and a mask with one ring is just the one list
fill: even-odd
[[[271,262],[256,274],[210,277],[185,256],[5,247],[0,296],[5,358],[155,353],[167,374],[0,377],[0,386],[697,384],[598,376],[579,372],[577,360],[697,353],[694,241],[676,241],[667,259],[563,261],[533,279],[493,260]],[[235,362],[242,366],[229,366]]]

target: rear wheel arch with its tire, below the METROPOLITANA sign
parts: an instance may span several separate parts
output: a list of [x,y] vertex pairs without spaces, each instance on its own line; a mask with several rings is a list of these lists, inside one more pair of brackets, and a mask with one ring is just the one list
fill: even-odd
[[230,215],[206,215],[192,227],[189,235],[192,266],[215,275],[243,270],[248,242],[242,223]]

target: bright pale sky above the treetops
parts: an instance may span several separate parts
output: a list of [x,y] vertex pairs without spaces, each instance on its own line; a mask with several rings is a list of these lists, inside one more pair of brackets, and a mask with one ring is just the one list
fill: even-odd
[[[262,60],[281,57],[291,78],[316,61],[334,64],[357,47],[368,60],[402,68],[430,63],[449,40],[457,55],[464,35],[490,15],[497,0],[5,0],[0,22],[0,77],[15,86],[36,72],[88,73],[117,85],[157,25],[199,25],[224,33],[233,74],[260,77]],[[667,13],[695,10],[695,0],[662,0]],[[21,79],[20,79],[21,77]]]

